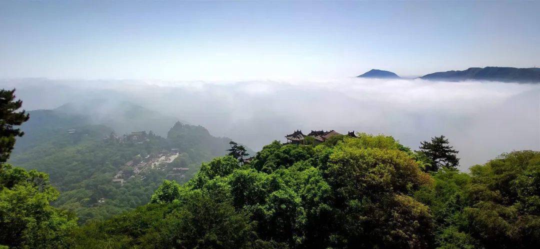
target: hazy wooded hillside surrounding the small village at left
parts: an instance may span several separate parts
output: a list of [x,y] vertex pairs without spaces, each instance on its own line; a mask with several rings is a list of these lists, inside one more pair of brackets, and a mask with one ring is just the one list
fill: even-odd
[[[204,127],[177,123],[168,139],[149,133],[141,143],[111,143],[104,138],[113,130],[92,125],[89,117],[58,110],[31,111],[30,117],[22,125],[26,134],[18,139],[10,163],[48,173],[61,193],[54,205],[75,212],[79,223],[147,203],[164,179],[184,182],[197,172],[201,161],[224,155],[231,141],[211,136]],[[137,156],[156,157],[171,149],[178,149],[179,156],[167,167],[147,167],[123,184],[112,181]],[[179,167],[189,170],[172,176],[171,169]]]

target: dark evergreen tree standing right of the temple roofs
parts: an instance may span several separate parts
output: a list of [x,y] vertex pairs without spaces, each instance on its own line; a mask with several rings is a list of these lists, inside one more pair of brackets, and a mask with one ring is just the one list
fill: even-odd
[[456,157],[458,151],[449,145],[448,139],[444,136],[433,137],[431,142],[421,142],[420,152],[424,153],[430,160],[430,165],[426,171],[437,171],[441,167],[451,167],[456,169],[460,164],[460,159]]

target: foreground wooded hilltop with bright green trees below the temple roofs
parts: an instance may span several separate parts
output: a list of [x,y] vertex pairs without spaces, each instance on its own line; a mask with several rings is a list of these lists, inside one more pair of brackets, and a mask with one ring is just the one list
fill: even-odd
[[461,173],[392,137],[273,142],[241,165],[203,163],[151,203],[80,227],[73,245],[150,248],[536,248],[540,152]]

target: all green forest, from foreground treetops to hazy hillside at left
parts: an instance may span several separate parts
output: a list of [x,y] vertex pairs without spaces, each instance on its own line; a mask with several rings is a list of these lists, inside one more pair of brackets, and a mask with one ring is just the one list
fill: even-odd
[[[0,245],[30,248],[540,246],[540,152],[537,151],[505,153],[464,173],[456,169],[458,152],[443,136],[422,142],[419,150],[411,150],[391,136],[358,133],[356,137],[334,136],[320,144],[274,141],[251,160],[244,160],[243,151],[233,149],[228,156],[213,156],[218,148],[204,145],[212,140],[196,132],[201,131],[200,126],[177,123],[167,138],[154,135],[149,143],[133,145],[104,144],[103,138],[91,134],[109,132],[106,127],[83,126],[78,129],[88,130],[80,139],[69,140],[70,136],[44,139],[43,147],[11,155],[15,139],[24,135],[16,127],[28,116],[24,111],[17,112],[21,102],[15,99],[13,91],[2,90],[1,98]],[[201,141],[206,142],[201,144]],[[42,153],[52,150],[53,144],[67,145],[55,146],[59,149],[54,156],[43,157]],[[152,153],[154,145],[178,147],[190,158],[188,165],[198,160],[206,162],[197,163],[196,173],[189,180],[186,177],[185,182],[161,181],[163,178],[156,177],[160,183],[152,193],[141,190],[138,180],[133,185],[111,187],[112,174],[108,176],[106,169],[116,170],[117,162],[123,163],[144,150]],[[103,150],[97,152],[98,147]],[[84,156],[77,151],[82,151]],[[16,166],[5,163],[10,156],[10,163]],[[87,160],[96,158],[100,161],[88,169],[80,168],[89,165]],[[39,163],[40,160],[43,162]],[[53,169],[55,161],[58,165],[66,165],[64,161],[72,164]],[[50,175],[17,167],[21,165]],[[106,182],[99,180],[102,175],[107,177]],[[131,201],[130,191],[140,191],[135,196],[147,193],[147,198],[134,201],[133,206],[138,206],[134,210],[120,208],[122,213],[103,216],[111,218],[92,219],[73,207],[85,205],[83,200],[87,204],[86,199],[107,194],[117,194],[118,203]],[[62,197],[62,192],[70,194]],[[77,199],[71,206],[66,201],[70,198]],[[84,224],[78,223],[77,215],[81,217],[81,214]]]

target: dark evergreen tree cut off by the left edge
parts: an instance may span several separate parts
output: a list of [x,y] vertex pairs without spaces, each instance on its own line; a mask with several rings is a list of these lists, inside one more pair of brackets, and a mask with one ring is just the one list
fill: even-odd
[[24,110],[17,111],[22,104],[22,100],[15,100],[15,89],[0,90],[0,163],[8,160],[15,146],[15,137],[24,135],[23,131],[14,127],[30,118]]

